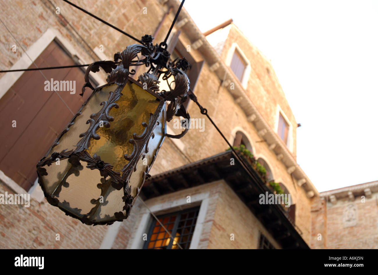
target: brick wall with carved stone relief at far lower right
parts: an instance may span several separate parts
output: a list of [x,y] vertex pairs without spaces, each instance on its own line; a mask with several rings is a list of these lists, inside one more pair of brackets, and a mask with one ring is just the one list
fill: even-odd
[[[377,193],[371,198],[324,199],[313,202],[311,247],[325,249],[377,249]],[[316,210],[319,209],[319,210]],[[318,240],[318,234],[322,240]]]

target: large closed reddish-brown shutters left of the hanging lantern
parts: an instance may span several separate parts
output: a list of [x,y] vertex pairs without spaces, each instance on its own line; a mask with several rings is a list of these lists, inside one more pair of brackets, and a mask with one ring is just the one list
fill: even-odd
[[[75,64],[54,41],[34,62],[38,67]],[[70,94],[69,89],[56,93],[45,91],[46,79],[42,74],[26,71],[0,99],[0,170],[26,190],[37,178],[37,162],[73,117],[66,104],[76,113],[90,95],[87,91],[84,97],[79,96],[84,84],[80,68],[43,70],[42,73],[48,81],[75,80],[76,93]],[[13,121],[16,127],[12,127]]]

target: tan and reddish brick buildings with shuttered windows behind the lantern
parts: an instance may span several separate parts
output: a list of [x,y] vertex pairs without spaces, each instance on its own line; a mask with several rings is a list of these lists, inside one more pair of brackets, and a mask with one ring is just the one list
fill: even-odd
[[[111,60],[114,53],[135,43],[67,3],[33,0],[1,1],[0,5],[3,15],[0,24],[0,64],[3,69],[33,67],[33,62],[40,67],[52,66],[48,64],[48,60],[61,62],[64,58],[68,63],[76,64]],[[77,5],[85,6],[93,14],[134,37],[152,34],[157,43],[164,40],[180,2],[101,0],[85,1],[85,4],[77,2]],[[285,192],[290,193],[291,205],[295,205],[291,218],[283,215],[281,210],[273,209],[285,232],[277,234],[274,230],[278,228],[277,224],[272,224],[254,212],[254,209],[258,209],[256,205],[243,200],[246,193],[252,194],[253,188],[240,191],[234,183],[240,180],[238,175],[245,170],[232,170],[235,174],[232,179],[222,173],[214,177],[201,175],[198,166],[203,167],[207,162],[222,167],[219,160],[221,157],[214,156],[224,153],[228,145],[200,113],[197,105],[190,101],[187,110],[193,119],[204,119],[203,131],[190,129],[181,139],[166,138],[150,171],[151,183],[146,184],[146,190],[141,195],[143,202],[136,201],[129,218],[111,226],[90,227],[65,216],[43,198],[42,190],[35,183],[36,174],[29,171],[31,166],[28,162],[36,164],[39,161],[47,150],[43,146],[50,146],[83,99],[77,96],[78,93],[70,96],[67,92],[59,92],[66,94],[59,94],[56,99],[49,97],[43,106],[33,107],[34,113],[24,116],[20,114],[15,119],[18,128],[12,128],[12,116],[33,109],[29,104],[32,99],[27,97],[27,93],[22,93],[25,90],[31,93],[24,82],[37,75],[40,77],[38,71],[28,76],[29,80],[25,79],[26,73],[12,72],[2,74],[0,78],[0,106],[9,108],[11,112],[9,117],[0,121],[1,128],[8,134],[0,136],[0,194],[29,192],[31,205],[28,208],[23,205],[0,205],[1,248],[144,248],[152,242],[155,233],[153,230],[158,227],[154,227],[155,220],[150,211],[162,217],[162,222],[165,219],[182,219],[184,229],[189,232],[186,248],[289,248],[291,243],[289,245],[285,241],[289,238],[285,235],[287,232],[293,237],[290,242],[292,240],[294,247],[377,247],[375,188],[371,187],[370,195],[365,191],[370,187],[350,191],[353,197],[361,195],[358,192],[365,192],[365,204],[352,203],[350,195],[347,196],[348,201],[344,198],[344,191],[340,192],[342,195],[338,195],[336,190],[330,191],[332,194],[316,190],[296,163],[297,122],[272,65],[231,20],[202,33],[183,9],[169,37],[168,45],[170,44],[173,45],[172,56],[185,57],[191,62],[192,68],[195,68],[188,73],[191,88],[228,141],[234,145],[245,145],[264,165],[270,179],[280,183]],[[47,52],[49,46],[55,48]],[[52,59],[53,55],[55,59]],[[140,73],[142,71],[137,74]],[[47,76],[48,72],[45,74]],[[74,72],[67,70],[62,75],[56,73],[51,77],[76,80],[76,90],[81,88],[80,69]],[[98,85],[105,84],[105,73],[100,72],[91,77]],[[36,83],[33,94],[41,93],[43,96],[44,93],[50,93],[41,90],[42,81],[43,79],[40,84]],[[62,126],[54,124],[54,119],[46,119],[49,100],[56,100],[53,102],[59,108],[56,107],[58,113],[53,117],[59,117]],[[76,102],[79,102],[78,106]],[[39,118],[37,114],[41,113],[44,115]],[[36,125],[30,127],[33,122],[28,121],[28,117],[33,116],[36,117]],[[20,132],[15,129],[20,129]],[[173,123],[167,124],[167,133],[177,131]],[[15,170],[12,161],[24,161],[15,157],[17,150],[25,150],[25,142],[38,132],[43,133],[43,143],[46,144],[38,142],[41,141],[38,138],[36,145],[33,145],[38,150],[28,149],[24,157],[27,158],[25,167]],[[204,159],[207,161],[203,161]],[[185,169],[188,172],[181,173]],[[194,172],[199,173],[198,176],[188,179],[187,174]],[[183,187],[174,186],[169,178],[171,173],[183,178],[180,180]],[[185,185],[185,181],[189,182]],[[260,187],[263,188],[259,185]],[[149,195],[147,192],[156,194]],[[372,207],[374,212],[370,212]],[[194,216],[189,218],[190,215]],[[357,219],[353,218],[356,216]],[[366,220],[362,217],[368,219],[368,222],[363,222]],[[189,221],[192,222],[191,227],[186,226]],[[171,233],[180,227],[177,222],[172,223],[172,226]],[[366,234],[361,234],[360,227],[366,230]],[[336,233],[340,231],[344,233]],[[321,240],[319,233],[322,234]],[[59,240],[56,239],[57,234]],[[176,234],[181,238],[181,243],[183,237]],[[356,238],[356,234],[360,237]],[[177,247],[177,241],[169,241],[167,237],[160,241],[160,245],[163,246],[166,240],[169,243],[166,247]]]

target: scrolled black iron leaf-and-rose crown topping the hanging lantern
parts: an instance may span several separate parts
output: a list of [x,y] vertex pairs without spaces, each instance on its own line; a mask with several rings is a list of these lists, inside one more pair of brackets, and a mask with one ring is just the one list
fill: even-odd
[[[95,90],[89,81],[89,73],[98,72],[99,67],[106,73],[109,73],[106,79],[107,83],[122,85],[129,75],[136,73],[134,69],[130,69],[130,66],[145,65],[149,67],[149,70],[139,76],[138,81],[146,83],[148,89],[159,94],[165,101],[170,101],[167,107],[167,122],[171,121],[174,116],[183,117],[190,122],[190,115],[186,112],[183,105],[188,96],[187,92],[189,91],[190,82],[182,70],[189,70],[191,65],[185,58],[170,60],[170,53],[166,50],[167,44],[161,42],[159,45],[153,45],[153,39],[152,36],[146,34],[141,39],[142,45],[133,44],[127,46],[121,53],[118,52],[114,55],[114,61],[97,61],[88,66],[84,76],[85,84],[82,87],[80,95],[83,96],[86,87]],[[139,57],[138,54],[141,54],[144,58]],[[171,76],[174,76],[174,89],[171,88],[172,83],[168,82]],[[158,79],[160,77],[167,82],[168,91],[162,90],[158,93],[158,85],[160,83]],[[181,138],[187,133],[189,128],[185,128],[181,134],[166,134],[166,136],[169,138]]]

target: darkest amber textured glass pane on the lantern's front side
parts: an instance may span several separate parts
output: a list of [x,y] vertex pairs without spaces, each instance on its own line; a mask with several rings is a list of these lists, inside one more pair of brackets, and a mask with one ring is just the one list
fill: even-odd
[[99,140],[91,140],[89,153],[97,154],[105,162],[114,166],[113,170],[120,172],[128,163],[124,154],[131,154],[133,144],[129,139],[133,133],[144,131],[142,122],[149,122],[150,113],[154,114],[159,101],[156,97],[129,81],[122,90],[122,96],[116,101],[119,108],[112,108],[109,115],[114,117],[110,128],[99,128]]

